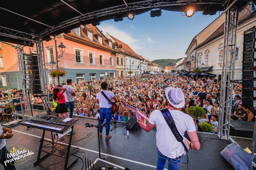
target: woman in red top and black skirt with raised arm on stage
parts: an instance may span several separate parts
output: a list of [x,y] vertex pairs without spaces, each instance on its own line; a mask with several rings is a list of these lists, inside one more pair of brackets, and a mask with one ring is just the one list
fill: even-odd
[[52,98],[58,101],[58,105],[56,106],[55,113],[59,114],[59,117],[69,117],[68,109],[66,108],[66,100],[63,93],[66,91],[66,88],[62,87],[62,85],[54,86],[52,92]]

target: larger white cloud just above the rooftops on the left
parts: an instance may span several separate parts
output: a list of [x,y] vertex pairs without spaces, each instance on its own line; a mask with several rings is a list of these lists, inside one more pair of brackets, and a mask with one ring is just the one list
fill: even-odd
[[140,40],[133,38],[133,36],[130,33],[127,33],[121,29],[118,29],[116,26],[107,24],[107,25],[100,25],[98,26],[100,30],[103,31],[105,34],[108,32],[111,36],[114,36],[118,40],[126,43],[129,45],[132,49],[143,49],[143,47],[140,44]]

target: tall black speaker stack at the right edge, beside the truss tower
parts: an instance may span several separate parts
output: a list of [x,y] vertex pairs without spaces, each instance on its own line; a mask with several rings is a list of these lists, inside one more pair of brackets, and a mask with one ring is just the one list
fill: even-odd
[[256,107],[256,33],[255,26],[244,32],[242,97],[243,106]]

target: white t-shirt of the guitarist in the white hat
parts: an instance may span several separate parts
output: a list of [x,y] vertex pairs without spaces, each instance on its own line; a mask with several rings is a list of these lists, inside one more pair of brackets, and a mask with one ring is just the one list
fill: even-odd
[[[179,110],[169,111],[182,136],[185,131],[196,131],[195,123],[191,116],[180,112]],[[183,145],[174,137],[160,110],[154,110],[151,113],[148,122],[156,124],[156,146],[163,155],[169,158],[176,158],[184,153]]]

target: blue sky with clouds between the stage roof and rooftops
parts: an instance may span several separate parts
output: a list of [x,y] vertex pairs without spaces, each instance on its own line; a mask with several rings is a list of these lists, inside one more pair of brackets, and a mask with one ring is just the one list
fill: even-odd
[[108,32],[128,44],[137,54],[150,61],[177,59],[185,57],[192,38],[216,19],[219,12],[214,16],[197,12],[190,18],[182,15],[184,12],[162,10],[162,16],[151,18],[150,12],[145,12],[135,16],[133,20],[125,17],[119,22],[113,19],[103,21],[98,28],[104,34]]

